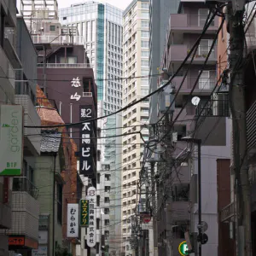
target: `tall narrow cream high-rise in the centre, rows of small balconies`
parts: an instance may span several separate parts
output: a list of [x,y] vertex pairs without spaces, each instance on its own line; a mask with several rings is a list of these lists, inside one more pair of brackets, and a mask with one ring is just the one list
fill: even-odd
[[[149,74],[149,1],[134,0],[123,13],[124,60],[123,106],[148,95]],[[139,78],[141,77],[141,78]],[[122,154],[122,253],[132,253],[131,218],[137,212],[137,182],[142,167],[143,143],[141,131],[148,140],[148,101],[143,101],[123,112],[123,154]],[[150,236],[150,235],[149,235]],[[153,243],[151,243],[152,245]],[[153,248],[149,249],[149,255]]]

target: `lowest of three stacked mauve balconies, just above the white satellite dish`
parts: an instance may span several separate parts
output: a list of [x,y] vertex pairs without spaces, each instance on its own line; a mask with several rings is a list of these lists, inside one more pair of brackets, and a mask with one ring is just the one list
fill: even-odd
[[[183,86],[179,91],[179,95],[189,95],[190,91],[195,85],[196,79],[197,77],[187,77],[186,79],[184,79]],[[176,88],[178,88],[183,81],[183,76],[175,77],[172,81],[173,81],[173,84],[176,86]],[[200,94],[201,96],[210,95],[212,93],[213,88],[215,87],[216,82],[217,81],[215,77],[202,78],[202,75],[201,75],[201,78],[195,85],[195,90],[193,92],[193,95],[198,95],[198,94]]]

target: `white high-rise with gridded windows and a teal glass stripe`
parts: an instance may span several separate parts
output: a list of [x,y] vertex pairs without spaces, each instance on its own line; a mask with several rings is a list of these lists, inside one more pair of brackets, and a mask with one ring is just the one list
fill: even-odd
[[94,69],[102,114],[114,112],[122,96],[122,11],[90,1],[59,10],[63,26],[75,26],[84,37],[86,54]]

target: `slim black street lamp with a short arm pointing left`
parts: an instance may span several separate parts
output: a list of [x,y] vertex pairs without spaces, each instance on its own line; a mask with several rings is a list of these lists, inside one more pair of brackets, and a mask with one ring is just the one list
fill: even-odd
[[197,151],[198,151],[198,176],[197,176],[197,183],[198,183],[198,237],[199,237],[199,247],[198,247],[198,254],[201,256],[201,139],[197,139],[194,137],[182,137],[181,141],[187,143],[195,143],[197,144]]

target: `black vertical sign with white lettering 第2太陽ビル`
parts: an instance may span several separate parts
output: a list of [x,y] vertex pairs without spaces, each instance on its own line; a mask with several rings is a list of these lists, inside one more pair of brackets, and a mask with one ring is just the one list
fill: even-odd
[[93,118],[92,115],[92,106],[91,105],[82,105],[79,106],[80,122],[83,122],[80,126],[80,174],[84,176],[92,175],[93,170],[93,152],[91,144],[93,140],[93,125],[92,122],[88,122]]

